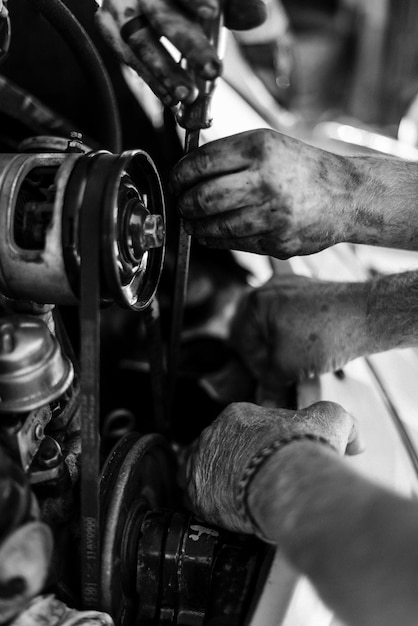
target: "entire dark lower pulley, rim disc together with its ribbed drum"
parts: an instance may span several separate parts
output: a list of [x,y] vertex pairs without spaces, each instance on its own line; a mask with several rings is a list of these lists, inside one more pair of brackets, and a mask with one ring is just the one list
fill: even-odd
[[126,435],[110,455],[101,479],[100,608],[117,626],[240,626],[272,553],[183,510],[175,474],[158,435]]

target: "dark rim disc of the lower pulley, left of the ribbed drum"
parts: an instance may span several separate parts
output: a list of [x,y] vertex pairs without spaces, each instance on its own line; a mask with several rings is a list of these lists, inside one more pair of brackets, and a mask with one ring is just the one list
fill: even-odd
[[126,435],[110,453],[101,477],[101,608],[117,625],[137,611],[136,555],[146,511],[172,507],[176,466],[160,435]]

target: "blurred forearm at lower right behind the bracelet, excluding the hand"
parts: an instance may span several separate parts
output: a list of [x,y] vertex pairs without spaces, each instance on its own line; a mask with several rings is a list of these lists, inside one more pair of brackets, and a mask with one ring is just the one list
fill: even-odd
[[415,502],[365,481],[326,447],[298,442],[259,470],[248,504],[348,625],[416,624]]

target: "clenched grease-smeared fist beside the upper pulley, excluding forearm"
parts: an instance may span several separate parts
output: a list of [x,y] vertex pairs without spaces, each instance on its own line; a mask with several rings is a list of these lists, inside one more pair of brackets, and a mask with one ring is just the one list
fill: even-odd
[[348,240],[353,168],[345,157],[261,129],[187,155],[171,182],[186,229],[201,243],[288,258]]

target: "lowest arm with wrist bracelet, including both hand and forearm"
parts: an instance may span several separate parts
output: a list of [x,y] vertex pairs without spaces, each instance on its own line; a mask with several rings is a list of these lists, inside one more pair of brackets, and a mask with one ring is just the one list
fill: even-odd
[[[287,443],[243,481],[266,446],[306,433],[321,442]],[[360,447],[353,418],[330,402],[296,412],[230,405],[194,445],[188,495],[208,521],[278,543],[348,626],[413,626],[418,503],[365,480],[337,454]]]

